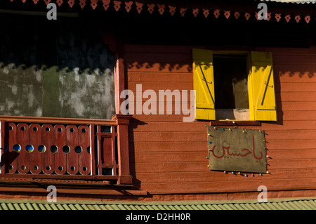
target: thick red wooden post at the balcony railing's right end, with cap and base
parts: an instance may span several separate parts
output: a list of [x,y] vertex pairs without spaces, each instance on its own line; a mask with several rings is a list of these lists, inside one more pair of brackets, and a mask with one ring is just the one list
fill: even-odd
[[129,173],[129,119],[131,115],[115,114],[112,119],[117,121],[117,157],[119,163],[119,180],[117,184],[131,184]]

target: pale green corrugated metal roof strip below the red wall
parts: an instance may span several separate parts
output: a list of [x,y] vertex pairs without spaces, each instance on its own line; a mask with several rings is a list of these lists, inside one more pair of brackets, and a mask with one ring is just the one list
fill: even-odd
[[316,210],[316,198],[270,202],[46,202],[0,199],[0,210]]

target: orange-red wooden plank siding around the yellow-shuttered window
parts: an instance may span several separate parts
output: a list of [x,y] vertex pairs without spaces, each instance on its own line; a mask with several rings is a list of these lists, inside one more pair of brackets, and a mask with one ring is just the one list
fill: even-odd
[[[184,123],[185,115],[173,110],[133,115],[129,148],[136,187],[151,195],[256,192],[259,185],[275,191],[315,190],[316,48],[255,51],[272,51],[278,121],[243,128],[268,133],[270,174],[245,177],[209,171],[209,121]],[[124,63],[126,88],[134,93],[136,84],[142,84],[143,91],[156,91],[157,99],[159,90],[193,89],[192,46],[125,45]]]

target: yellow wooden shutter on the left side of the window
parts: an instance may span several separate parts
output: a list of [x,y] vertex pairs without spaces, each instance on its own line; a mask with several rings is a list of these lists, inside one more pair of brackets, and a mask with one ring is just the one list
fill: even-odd
[[213,52],[193,49],[195,119],[215,120]]

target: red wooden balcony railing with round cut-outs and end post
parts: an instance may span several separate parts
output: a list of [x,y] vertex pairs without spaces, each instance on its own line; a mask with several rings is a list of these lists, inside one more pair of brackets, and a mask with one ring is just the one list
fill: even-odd
[[1,178],[131,184],[131,117],[112,120],[1,116]]

